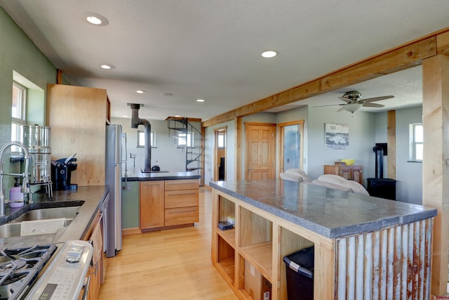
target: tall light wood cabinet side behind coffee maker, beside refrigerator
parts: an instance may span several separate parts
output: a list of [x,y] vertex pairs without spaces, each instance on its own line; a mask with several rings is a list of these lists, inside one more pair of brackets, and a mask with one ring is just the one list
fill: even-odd
[[105,89],[48,84],[47,124],[51,159],[76,153],[71,183],[105,184],[106,122],[109,100]]

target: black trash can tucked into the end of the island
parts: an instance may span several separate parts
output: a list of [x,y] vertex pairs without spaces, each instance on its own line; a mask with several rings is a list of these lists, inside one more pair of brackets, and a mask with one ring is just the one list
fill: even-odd
[[314,299],[314,247],[284,256],[288,300]]

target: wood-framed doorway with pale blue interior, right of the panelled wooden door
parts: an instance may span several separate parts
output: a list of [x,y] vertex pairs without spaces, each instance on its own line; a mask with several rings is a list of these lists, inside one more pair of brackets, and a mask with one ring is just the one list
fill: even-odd
[[286,169],[302,169],[304,120],[278,124],[279,126],[279,173]]

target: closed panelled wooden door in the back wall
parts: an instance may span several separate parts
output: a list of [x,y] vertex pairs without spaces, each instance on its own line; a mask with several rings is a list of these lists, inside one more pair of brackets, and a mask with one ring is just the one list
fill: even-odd
[[274,178],[276,124],[246,123],[246,179]]

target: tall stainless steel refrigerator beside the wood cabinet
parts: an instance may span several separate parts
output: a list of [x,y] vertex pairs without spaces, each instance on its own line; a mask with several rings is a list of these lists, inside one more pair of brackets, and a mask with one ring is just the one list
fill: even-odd
[[[106,208],[105,252],[115,256],[121,250],[121,169],[123,162],[123,133],[121,125],[106,126],[106,184],[109,185],[109,203]],[[123,143],[126,145],[126,143]],[[126,150],[124,150],[126,152]]]

